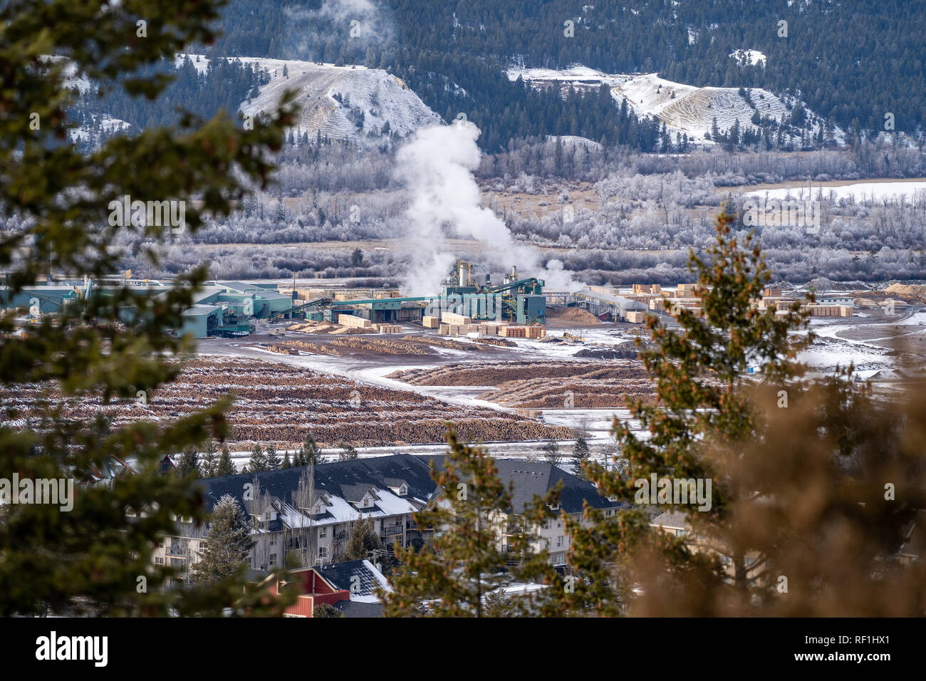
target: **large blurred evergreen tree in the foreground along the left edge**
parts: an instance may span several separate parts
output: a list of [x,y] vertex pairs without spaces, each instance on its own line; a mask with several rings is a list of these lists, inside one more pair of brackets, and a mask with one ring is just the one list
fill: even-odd
[[[138,109],[163,102],[168,81],[156,70],[187,45],[210,40],[215,27],[209,22],[219,17],[220,5],[176,0],[143,11],[129,2],[106,14],[99,5],[48,0],[42,11],[54,20],[37,20],[36,7],[28,3],[0,6],[5,92],[0,205],[5,216],[22,218],[0,243],[6,301],[18,299],[24,287],[49,271],[104,281],[120,269],[122,249],[112,246],[130,237],[144,235],[152,252],[173,243],[169,229],[107,220],[118,197],[185,202],[183,238],[194,238],[204,214],[228,215],[247,187],[272,180],[272,152],[291,121],[288,105],[269,111],[268,122],[252,130],[224,114],[207,122],[194,115],[182,130],[166,121],[131,138],[108,137],[89,153],[88,146],[71,143],[75,75],[106,82]],[[141,15],[148,31],[137,40],[135,20]],[[88,36],[93,36],[90,49]],[[67,58],[49,60],[49,55]],[[35,122],[40,125],[30,126]],[[182,313],[206,278],[205,268],[178,272],[159,296],[139,296],[131,285],[114,284],[106,295],[79,296],[54,322],[32,325],[28,335],[15,333],[17,314],[4,314],[0,382],[5,393],[15,395],[20,385],[37,383],[66,397],[89,391],[104,401],[134,400],[139,391],[154,394],[181,371],[177,359],[194,349],[189,338],[168,330],[181,328]],[[5,412],[9,406],[3,405]],[[177,518],[206,520],[195,481],[159,474],[157,465],[169,452],[227,435],[229,399],[181,419],[126,423],[102,436],[92,422],[65,420],[55,405],[47,406],[40,430],[14,429],[9,421],[0,426],[0,469],[17,471],[23,479],[89,480],[113,459],[138,465],[135,474],[111,486],[81,490],[68,512],[53,504],[6,505],[0,523],[0,615],[49,609],[97,615],[219,615],[226,608],[279,612],[282,601],[266,599],[266,589],[245,593],[240,576],[208,588],[165,589],[175,575],[153,560],[158,538],[175,532]],[[146,589],[138,588],[140,576]]]

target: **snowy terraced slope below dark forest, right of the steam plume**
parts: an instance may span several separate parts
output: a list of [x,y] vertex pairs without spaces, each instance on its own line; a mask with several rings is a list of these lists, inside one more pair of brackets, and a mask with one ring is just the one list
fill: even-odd
[[[509,69],[508,78],[512,81],[519,77],[534,87],[550,87],[558,82],[560,87],[579,89],[597,88],[602,83],[611,89],[616,101],[627,100],[637,116],[655,116],[666,124],[674,137],[675,132],[686,133],[694,142],[706,142],[714,118],[718,129],[723,132],[732,127],[734,120],[739,120],[741,131],[756,126],[753,116],[758,112],[761,117],[787,122],[791,117],[791,108],[796,98],[779,97],[768,90],[751,88],[747,94],[752,106],[740,95],[739,88],[694,87],[680,82],[671,82],[659,78],[656,73],[644,74],[608,74],[583,66],[569,69]],[[802,103],[803,104],[803,103]],[[816,135],[825,121],[820,120],[813,111],[804,105],[807,120],[812,121],[812,132]],[[838,127],[833,131],[833,140],[837,144],[845,142],[845,133]]]

